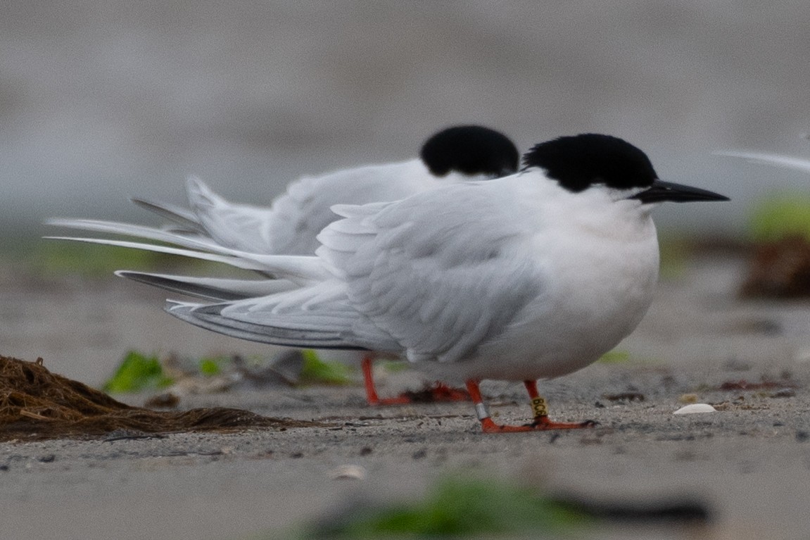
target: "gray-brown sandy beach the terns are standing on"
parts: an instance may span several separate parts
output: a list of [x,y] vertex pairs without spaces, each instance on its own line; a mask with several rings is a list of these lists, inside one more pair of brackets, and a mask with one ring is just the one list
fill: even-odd
[[[608,501],[684,496],[715,516],[697,533],[608,528],[589,538],[806,538],[810,304],[740,301],[743,271],[735,257],[693,260],[660,285],[618,348],[626,360],[540,385],[554,418],[593,419],[595,429],[484,435],[468,403],[371,408],[359,385],[184,396],[181,409],[238,407],[330,426],[0,444],[0,536],[277,538],[350,500],[418,499],[441,475],[474,474]],[[2,305],[24,309],[4,331],[4,354],[41,356],[88,384],[128,348],[271,354],[173,321],[160,311],[163,295],[139,285],[16,285]],[[394,374],[381,391],[419,385],[414,373]],[[498,421],[527,418],[521,384],[484,392]],[[688,393],[717,412],[672,414]],[[141,405],[148,396],[117,397]],[[335,479],[342,465],[365,478]]]

